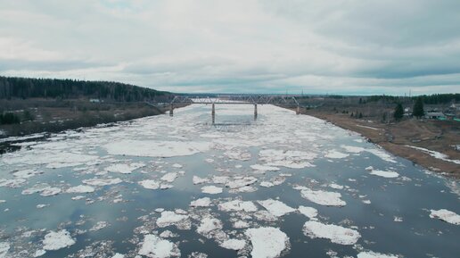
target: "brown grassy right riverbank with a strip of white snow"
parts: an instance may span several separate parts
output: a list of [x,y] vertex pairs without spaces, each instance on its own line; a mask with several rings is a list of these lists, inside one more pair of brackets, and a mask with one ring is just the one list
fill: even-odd
[[397,123],[382,123],[366,118],[351,118],[348,113],[316,109],[301,109],[300,113],[355,131],[391,154],[460,179],[460,124],[456,121],[407,119]]

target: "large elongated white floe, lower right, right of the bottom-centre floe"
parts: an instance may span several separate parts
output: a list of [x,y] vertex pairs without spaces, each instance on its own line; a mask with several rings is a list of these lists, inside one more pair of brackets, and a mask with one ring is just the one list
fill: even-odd
[[354,245],[361,237],[354,229],[347,229],[333,224],[323,224],[317,221],[307,221],[303,225],[303,233],[311,238],[327,238],[335,244]]

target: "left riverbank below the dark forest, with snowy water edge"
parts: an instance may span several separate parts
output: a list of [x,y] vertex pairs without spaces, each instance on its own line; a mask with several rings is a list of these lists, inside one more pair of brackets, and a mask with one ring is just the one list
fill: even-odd
[[[168,111],[165,106],[145,103],[88,103],[87,101],[0,101],[1,107],[12,106],[15,115],[23,120],[28,113],[29,121],[0,125],[0,154],[18,149],[16,146],[30,138],[37,140],[67,129],[94,127],[118,121],[130,121]],[[182,105],[178,105],[180,107]],[[14,144],[14,145],[12,145]]]

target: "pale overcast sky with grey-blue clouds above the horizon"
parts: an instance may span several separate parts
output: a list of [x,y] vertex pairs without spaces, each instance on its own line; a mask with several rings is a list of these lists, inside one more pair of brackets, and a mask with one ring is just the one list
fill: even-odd
[[0,0],[0,75],[187,93],[460,92],[458,0]]

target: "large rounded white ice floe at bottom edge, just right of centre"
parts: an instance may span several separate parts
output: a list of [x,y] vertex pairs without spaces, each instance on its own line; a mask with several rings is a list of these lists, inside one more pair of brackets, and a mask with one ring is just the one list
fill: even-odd
[[277,228],[246,229],[244,234],[251,239],[253,258],[278,257],[289,245],[289,237]]

